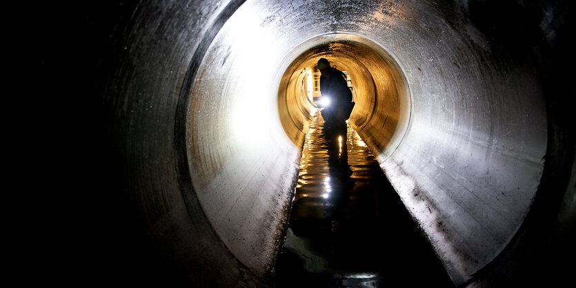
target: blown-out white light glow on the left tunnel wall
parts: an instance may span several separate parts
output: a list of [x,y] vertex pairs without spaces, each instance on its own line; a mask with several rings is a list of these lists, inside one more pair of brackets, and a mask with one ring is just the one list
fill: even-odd
[[[221,95],[221,105],[218,111],[226,114],[233,141],[248,147],[255,153],[261,152],[270,141],[269,126],[277,116],[272,112],[276,103],[270,97],[269,88],[263,83],[270,83],[277,69],[275,60],[279,54],[275,45],[275,33],[261,25],[261,9],[254,6],[242,6],[226,21],[226,27],[221,29],[212,45],[217,43],[222,47],[229,46],[228,54],[221,65],[222,73],[233,75],[221,90],[227,92]],[[241,11],[241,12],[240,12]],[[250,33],[246,33],[250,31]],[[277,88],[275,88],[277,90]],[[224,127],[212,127],[221,130]]]

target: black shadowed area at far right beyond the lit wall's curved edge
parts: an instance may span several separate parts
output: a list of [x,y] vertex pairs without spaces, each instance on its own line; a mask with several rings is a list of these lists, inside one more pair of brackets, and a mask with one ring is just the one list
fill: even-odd
[[[495,10],[493,7],[501,9]],[[575,30],[571,1],[471,1],[470,19],[508,55],[526,53],[546,96],[548,145],[539,189],[510,245],[469,282],[487,287],[563,287],[573,282],[576,228],[573,201]],[[484,17],[486,14],[493,17]],[[510,52],[513,51],[513,52]],[[511,57],[510,56],[510,57]],[[572,187],[570,187],[572,185]]]

